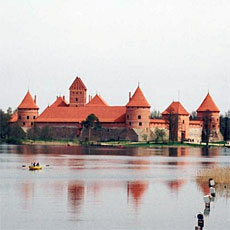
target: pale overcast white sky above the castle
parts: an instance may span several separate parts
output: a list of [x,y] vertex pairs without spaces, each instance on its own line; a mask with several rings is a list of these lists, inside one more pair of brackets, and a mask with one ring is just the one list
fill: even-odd
[[230,109],[229,0],[0,0],[0,108],[28,89],[42,112],[88,94],[125,105],[138,83],[152,110],[192,112],[208,91]]

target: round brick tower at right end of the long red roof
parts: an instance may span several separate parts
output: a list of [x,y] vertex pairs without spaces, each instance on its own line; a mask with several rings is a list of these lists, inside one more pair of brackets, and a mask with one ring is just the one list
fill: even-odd
[[136,129],[149,128],[150,107],[138,86],[126,105],[126,127]]

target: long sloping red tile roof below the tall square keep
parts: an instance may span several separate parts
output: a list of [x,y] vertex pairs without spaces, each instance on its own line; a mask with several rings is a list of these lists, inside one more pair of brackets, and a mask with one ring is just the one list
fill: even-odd
[[36,122],[81,122],[95,114],[100,122],[125,122],[125,106],[47,107]]

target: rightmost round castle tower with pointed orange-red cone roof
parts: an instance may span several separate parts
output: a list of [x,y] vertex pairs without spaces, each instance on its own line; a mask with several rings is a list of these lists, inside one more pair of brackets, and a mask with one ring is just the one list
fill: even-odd
[[197,109],[197,119],[203,121],[203,133],[209,132],[209,141],[223,139],[220,133],[220,110],[208,93],[200,107]]

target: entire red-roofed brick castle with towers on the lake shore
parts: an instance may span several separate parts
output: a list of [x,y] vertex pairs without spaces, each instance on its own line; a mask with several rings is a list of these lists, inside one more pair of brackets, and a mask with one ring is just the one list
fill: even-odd
[[[71,137],[87,140],[87,132],[81,122],[94,114],[101,123],[101,129],[92,130],[93,140],[154,140],[156,130],[164,130],[166,136],[174,134],[175,141],[189,140],[200,143],[205,130],[209,130],[210,141],[222,139],[219,128],[220,110],[208,93],[197,109],[197,120],[190,120],[190,114],[177,101],[172,102],[162,112],[161,119],[150,118],[150,104],[138,86],[125,106],[110,106],[98,94],[88,97],[87,88],[80,77],[76,77],[69,88],[69,102],[65,97],[57,97],[40,115],[36,104],[28,91],[13,114],[10,123],[18,123],[25,131],[36,125],[50,126],[62,137],[71,133]],[[67,136],[66,136],[67,135]]]

